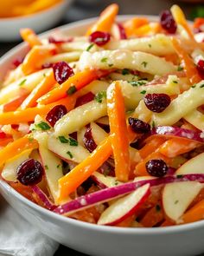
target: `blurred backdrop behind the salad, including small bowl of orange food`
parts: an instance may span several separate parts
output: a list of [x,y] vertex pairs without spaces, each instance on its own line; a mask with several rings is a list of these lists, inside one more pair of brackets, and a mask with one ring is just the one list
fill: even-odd
[[[0,56],[20,43],[18,30],[33,27],[37,32],[98,16],[110,3],[118,3],[120,14],[158,15],[179,4],[189,20],[204,17],[204,0],[0,0]],[[82,253],[60,246],[54,256]]]

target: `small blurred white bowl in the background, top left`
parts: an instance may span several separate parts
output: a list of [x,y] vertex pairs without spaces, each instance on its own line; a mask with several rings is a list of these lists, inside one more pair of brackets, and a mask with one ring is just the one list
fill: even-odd
[[31,28],[36,33],[48,30],[61,20],[67,11],[67,6],[72,2],[73,0],[65,0],[29,16],[0,18],[0,42],[19,40],[21,28]]

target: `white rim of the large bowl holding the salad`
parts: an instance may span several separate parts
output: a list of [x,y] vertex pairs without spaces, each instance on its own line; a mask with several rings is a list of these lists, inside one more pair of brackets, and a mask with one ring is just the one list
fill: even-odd
[[[127,18],[131,18],[132,16],[136,16],[136,15],[118,16],[118,19],[120,21],[123,21],[123,20],[126,20]],[[148,15],[139,15],[139,16],[148,16]],[[155,21],[158,19],[158,16],[148,16],[148,17],[152,21]],[[74,22],[74,23],[68,23],[61,27],[58,27],[57,29],[59,29],[61,31],[66,31],[71,28],[75,28],[75,27],[77,28],[81,25],[81,23],[83,23],[84,25],[93,23],[96,20],[96,18],[97,17],[93,17],[90,19],[86,19],[86,20],[82,20],[82,21],[78,21],[78,22]],[[42,38],[46,37],[54,30],[48,30],[47,32],[42,33],[40,36]],[[26,43],[20,43],[15,48],[10,49],[10,51],[8,51],[5,55],[3,55],[0,58],[0,65],[3,65],[3,62],[5,62],[6,59],[9,59],[10,56],[12,56],[14,53],[16,53],[18,50],[22,49],[25,46],[26,46]],[[29,205],[29,207],[35,209],[36,211],[39,211],[44,214],[48,214],[50,217],[55,218],[57,220],[61,220],[62,222],[65,222],[65,223],[67,222],[70,224],[74,224],[76,226],[83,226],[85,228],[87,227],[92,230],[98,230],[98,231],[101,230],[106,233],[123,233],[123,234],[125,234],[125,233],[133,233],[134,234],[135,233],[135,234],[141,234],[141,235],[145,235],[145,234],[159,235],[159,234],[163,234],[163,233],[180,233],[181,231],[193,230],[194,228],[201,227],[201,226],[204,227],[204,220],[196,221],[196,222],[189,223],[189,224],[183,224],[180,226],[163,226],[163,227],[139,227],[139,228],[134,227],[134,228],[131,228],[131,227],[118,227],[118,226],[99,226],[96,224],[87,223],[87,222],[80,221],[80,220],[74,220],[74,219],[62,216],[60,214],[57,214],[57,213],[53,213],[43,207],[40,207],[37,204],[35,204],[34,202],[32,202],[32,201],[28,200],[27,198],[25,198],[24,196],[22,196],[22,194],[19,194],[18,192],[16,192],[16,190],[14,188],[10,187],[10,185],[6,181],[0,180],[0,186],[2,186],[3,189],[5,189],[8,193],[10,193],[12,196],[14,196],[16,198],[16,200],[20,200],[22,203]]]

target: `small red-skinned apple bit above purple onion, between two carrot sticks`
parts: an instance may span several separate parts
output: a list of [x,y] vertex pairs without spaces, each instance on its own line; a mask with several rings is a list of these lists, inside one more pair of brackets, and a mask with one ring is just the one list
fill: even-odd
[[117,181],[116,177],[105,176],[104,174],[100,174],[98,172],[92,174],[92,180],[95,181],[101,188],[115,187],[123,184],[123,182]]

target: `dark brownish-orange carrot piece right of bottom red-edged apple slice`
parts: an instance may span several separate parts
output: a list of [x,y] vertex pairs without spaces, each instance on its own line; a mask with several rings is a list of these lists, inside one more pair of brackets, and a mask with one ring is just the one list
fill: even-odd
[[152,207],[140,221],[140,224],[146,227],[156,226],[164,218],[163,210],[160,203],[157,203],[155,207]]

